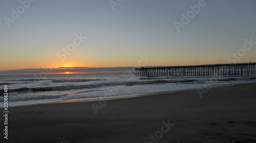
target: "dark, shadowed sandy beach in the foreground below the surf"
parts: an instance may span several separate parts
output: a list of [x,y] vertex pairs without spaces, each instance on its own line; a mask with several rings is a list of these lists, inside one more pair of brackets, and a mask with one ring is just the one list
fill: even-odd
[[202,98],[189,90],[11,107],[8,139],[1,122],[0,142],[256,142],[255,93],[256,83],[247,83],[212,88]]

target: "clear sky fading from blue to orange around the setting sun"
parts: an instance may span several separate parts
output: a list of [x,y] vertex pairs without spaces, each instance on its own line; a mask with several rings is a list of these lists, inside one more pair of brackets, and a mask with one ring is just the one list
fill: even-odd
[[0,71],[256,62],[255,6],[236,0],[3,0]]

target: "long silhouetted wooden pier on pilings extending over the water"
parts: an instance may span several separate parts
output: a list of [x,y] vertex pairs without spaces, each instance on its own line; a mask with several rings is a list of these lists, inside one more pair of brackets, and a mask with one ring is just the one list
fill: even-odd
[[216,64],[198,66],[142,67],[141,76],[255,76],[256,63]]

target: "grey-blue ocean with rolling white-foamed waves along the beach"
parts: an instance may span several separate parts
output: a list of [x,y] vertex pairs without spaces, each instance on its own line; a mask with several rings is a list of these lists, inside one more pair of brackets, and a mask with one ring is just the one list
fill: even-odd
[[[53,103],[70,99],[114,97],[181,90],[224,87],[256,82],[255,77],[135,76],[129,73],[0,76],[0,107],[4,106],[4,85],[8,85],[9,106]],[[199,96],[200,97],[200,96]]]

